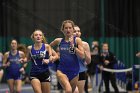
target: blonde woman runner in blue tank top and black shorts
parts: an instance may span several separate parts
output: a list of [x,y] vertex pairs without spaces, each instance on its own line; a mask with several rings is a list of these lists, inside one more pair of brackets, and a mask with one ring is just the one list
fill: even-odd
[[46,44],[44,34],[37,29],[31,35],[33,45],[28,46],[27,57],[31,60],[30,80],[35,93],[50,93],[49,62],[58,58],[53,56],[52,49]]

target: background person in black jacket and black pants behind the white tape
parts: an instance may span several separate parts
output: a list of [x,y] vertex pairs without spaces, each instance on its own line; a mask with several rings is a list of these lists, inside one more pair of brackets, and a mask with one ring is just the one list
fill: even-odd
[[[112,52],[109,51],[108,43],[102,44],[102,51],[100,54],[100,69],[109,68],[114,69],[114,64],[117,62],[116,57]],[[105,83],[105,91],[106,93],[110,93],[109,81],[111,81],[111,85],[115,90],[115,93],[119,93],[117,84],[116,84],[116,76],[115,73],[102,71],[103,80]]]

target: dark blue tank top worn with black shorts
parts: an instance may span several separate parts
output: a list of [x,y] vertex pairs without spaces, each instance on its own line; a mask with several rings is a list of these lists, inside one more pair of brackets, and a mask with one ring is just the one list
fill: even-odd
[[42,47],[39,50],[34,49],[34,45],[32,45],[32,49],[30,51],[31,56],[31,75],[38,75],[42,72],[48,71],[48,64],[42,62],[43,59],[49,58],[49,53],[45,48],[45,44],[42,43]]

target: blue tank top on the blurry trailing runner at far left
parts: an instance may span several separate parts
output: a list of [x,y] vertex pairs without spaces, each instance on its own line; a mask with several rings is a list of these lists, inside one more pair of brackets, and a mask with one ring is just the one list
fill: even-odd
[[21,68],[21,63],[19,62],[19,59],[20,59],[19,51],[17,51],[16,55],[12,55],[10,51],[9,57],[7,59],[7,61],[10,62],[10,66],[8,66],[6,70],[12,73],[19,72],[19,69]]

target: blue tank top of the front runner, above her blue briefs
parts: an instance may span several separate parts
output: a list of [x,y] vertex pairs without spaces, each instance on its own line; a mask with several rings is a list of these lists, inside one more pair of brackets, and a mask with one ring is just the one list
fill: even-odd
[[[74,37],[74,45],[76,45]],[[61,40],[59,45],[60,50],[60,63],[58,69],[62,71],[79,72],[79,62],[77,55],[73,49],[70,48],[70,42]]]

